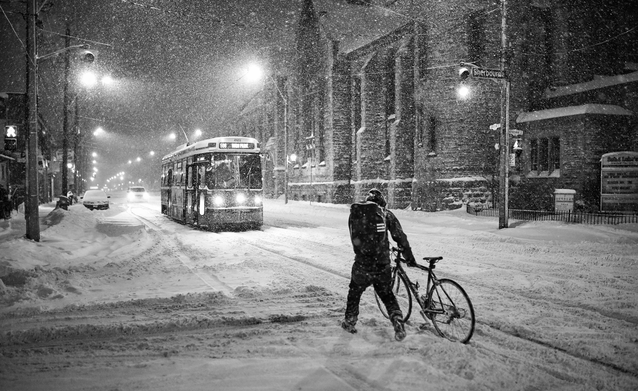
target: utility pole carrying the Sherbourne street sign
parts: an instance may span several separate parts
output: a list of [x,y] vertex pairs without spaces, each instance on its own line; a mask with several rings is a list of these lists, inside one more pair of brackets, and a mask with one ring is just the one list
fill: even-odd
[[[501,0],[501,61],[500,70],[507,75],[507,0]],[[508,222],[508,187],[509,187],[509,151],[510,151],[510,81],[506,76],[501,84],[501,165],[499,172],[499,205],[498,229],[507,228]]]

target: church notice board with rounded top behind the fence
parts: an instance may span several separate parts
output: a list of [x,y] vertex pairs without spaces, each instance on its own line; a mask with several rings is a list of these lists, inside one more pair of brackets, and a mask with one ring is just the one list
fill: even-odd
[[600,210],[638,211],[638,152],[612,152],[602,155]]

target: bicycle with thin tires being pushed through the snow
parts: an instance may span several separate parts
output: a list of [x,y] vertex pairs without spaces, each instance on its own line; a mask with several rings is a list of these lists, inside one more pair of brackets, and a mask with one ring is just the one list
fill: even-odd
[[[426,322],[431,321],[441,337],[454,342],[468,343],[474,333],[476,322],[474,308],[468,294],[456,281],[436,278],[434,264],[443,257],[424,257],[424,260],[429,261],[429,267],[417,263],[408,264],[408,267],[427,272],[426,295],[420,295],[419,282],[410,281],[401,266],[401,262],[406,263],[401,257],[401,251],[392,247],[392,256],[394,257],[392,260],[396,263],[392,266],[392,293],[396,296],[403,312],[403,321],[408,321],[412,314],[412,297],[414,297],[421,308],[420,314],[423,319]],[[376,292],[375,299],[383,316],[390,319],[385,305]]]

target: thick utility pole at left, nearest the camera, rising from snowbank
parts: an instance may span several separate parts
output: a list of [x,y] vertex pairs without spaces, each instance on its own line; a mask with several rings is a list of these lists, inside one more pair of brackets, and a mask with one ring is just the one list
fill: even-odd
[[36,49],[36,0],[27,0],[26,92],[26,198],[24,219],[28,239],[40,241],[38,211],[38,50]]

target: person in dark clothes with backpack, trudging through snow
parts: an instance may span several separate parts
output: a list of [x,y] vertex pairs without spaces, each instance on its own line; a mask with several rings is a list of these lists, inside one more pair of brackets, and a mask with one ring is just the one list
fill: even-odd
[[402,341],[405,338],[405,326],[403,314],[392,293],[390,243],[387,231],[390,231],[392,239],[399,245],[406,262],[413,264],[416,261],[399,220],[394,213],[385,209],[386,204],[383,194],[372,188],[367,194],[366,202],[350,206],[348,228],[355,261],[352,264],[348,303],[341,327],[350,333],[357,332],[355,325],[359,316],[361,295],[372,285],[390,316],[394,326],[394,338]]

